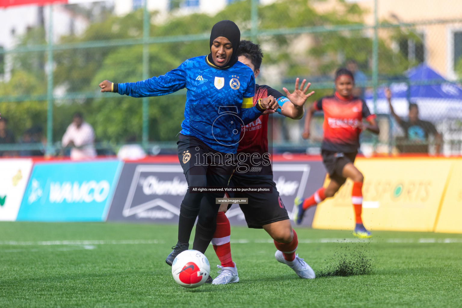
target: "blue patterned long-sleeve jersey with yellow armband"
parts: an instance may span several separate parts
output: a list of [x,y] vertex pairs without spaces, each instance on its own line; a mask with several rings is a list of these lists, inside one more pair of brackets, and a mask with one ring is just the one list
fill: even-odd
[[118,84],[118,93],[150,97],[182,88],[188,91],[180,133],[201,139],[215,151],[236,153],[241,125],[261,115],[253,106],[255,78],[252,70],[241,62],[228,69],[219,69],[207,60],[207,56],[200,56],[184,61],[165,75]]

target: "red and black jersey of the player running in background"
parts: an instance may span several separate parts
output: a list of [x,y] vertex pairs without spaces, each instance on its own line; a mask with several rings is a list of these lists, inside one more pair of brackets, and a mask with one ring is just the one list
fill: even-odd
[[356,152],[359,148],[358,124],[375,119],[364,100],[359,97],[344,98],[337,92],[333,96],[322,97],[316,101],[316,110],[324,112],[324,137],[322,150],[334,152]]

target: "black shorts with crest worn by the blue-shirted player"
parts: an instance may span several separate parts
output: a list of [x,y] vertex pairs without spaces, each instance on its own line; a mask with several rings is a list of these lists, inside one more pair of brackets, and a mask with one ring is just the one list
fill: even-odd
[[180,161],[183,173],[190,171],[194,175],[223,175],[227,177],[224,184],[226,186],[230,176],[236,167],[234,156],[213,150],[201,139],[194,136],[180,134],[178,136],[178,160]]

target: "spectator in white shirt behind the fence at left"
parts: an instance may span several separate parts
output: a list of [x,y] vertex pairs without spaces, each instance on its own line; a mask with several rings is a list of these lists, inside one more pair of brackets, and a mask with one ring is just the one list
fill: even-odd
[[71,147],[71,159],[82,160],[96,157],[95,132],[90,124],[83,121],[81,113],[74,114],[72,123],[62,136],[62,146]]

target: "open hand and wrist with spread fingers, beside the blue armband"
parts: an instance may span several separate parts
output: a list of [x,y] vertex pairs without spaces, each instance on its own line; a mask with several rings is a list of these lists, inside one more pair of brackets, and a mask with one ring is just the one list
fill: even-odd
[[299,78],[295,79],[295,90],[293,93],[290,93],[286,88],[282,89],[284,92],[286,92],[286,97],[290,102],[285,102],[283,106],[281,106],[281,113],[282,115],[295,120],[301,119],[303,117],[303,105],[308,97],[315,93],[314,91],[308,93],[311,83],[308,83],[305,87],[306,79],[303,79],[301,86],[299,85],[299,81]]

